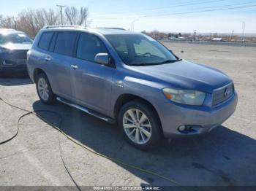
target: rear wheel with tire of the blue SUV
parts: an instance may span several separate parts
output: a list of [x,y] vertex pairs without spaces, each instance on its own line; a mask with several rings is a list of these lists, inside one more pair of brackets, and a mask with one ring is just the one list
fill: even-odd
[[54,95],[48,77],[44,73],[40,73],[36,80],[37,95],[44,104],[53,104],[56,101],[56,95]]

